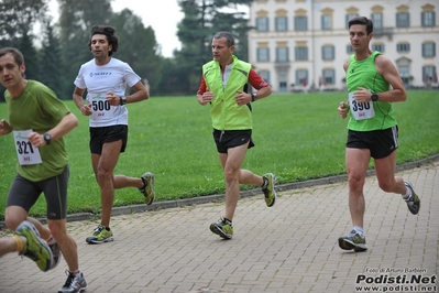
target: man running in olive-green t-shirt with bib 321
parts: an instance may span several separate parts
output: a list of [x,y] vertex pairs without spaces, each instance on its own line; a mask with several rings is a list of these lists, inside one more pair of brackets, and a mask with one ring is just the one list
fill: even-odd
[[[68,276],[58,292],[87,287],[79,271],[75,240],[67,232],[68,159],[63,137],[78,126],[78,119],[45,85],[24,78],[24,57],[13,47],[0,48],[0,82],[7,88],[9,117],[0,120],[0,135],[12,133],[18,155],[18,174],[9,191],[6,223],[14,231],[0,239],[0,257],[19,252],[36,262],[40,270],[54,269],[63,253]],[[29,216],[44,194],[47,227]]]

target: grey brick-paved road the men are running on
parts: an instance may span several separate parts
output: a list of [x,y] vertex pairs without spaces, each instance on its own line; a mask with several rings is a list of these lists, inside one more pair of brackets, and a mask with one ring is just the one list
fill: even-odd
[[[414,184],[420,213],[413,216],[400,196],[385,194],[374,176],[367,177],[366,252],[343,251],[337,243],[351,229],[343,181],[279,192],[272,208],[262,194],[242,198],[232,240],[209,231],[223,213],[222,203],[114,216],[116,240],[99,246],[85,242],[96,220],[69,221],[68,229],[78,242],[87,292],[344,293],[360,292],[361,285],[437,292],[439,163],[398,174]],[[42,273],[26,258],[4,256],[0,292],[57,292],[65,268],[63,260]],[[424,284],[415,287],[411,278]],[[363,281],[355,285],[358,279]]]

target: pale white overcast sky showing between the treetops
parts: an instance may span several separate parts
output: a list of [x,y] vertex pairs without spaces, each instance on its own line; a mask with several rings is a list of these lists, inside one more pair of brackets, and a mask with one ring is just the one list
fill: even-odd
[[[114,12],[120,12],[125,8],[130,9],[142,19],[145,28],[153,28],[155,39],[162,46],[162,55],[172,57],[173,51],[182,47],[176,34],[177,23],[183,19],[184,14],[180,12],[177,0],[154,0],[151,3],[150,1],[146,4],[144,0],[113,0],[111,6]],[[56,0],[51,0],[48,6],[50,14],[56,21],[59,15],[58,3]]]

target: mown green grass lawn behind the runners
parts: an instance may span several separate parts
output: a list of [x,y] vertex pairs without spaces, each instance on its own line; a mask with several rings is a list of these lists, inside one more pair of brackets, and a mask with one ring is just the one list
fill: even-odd
[[[249,150],[243,167],[257,174],[273,172],[279,184],[344,174],[348,120],[338,116],[337,107],[347,97],[345,93],[286,94],[252,104],[256,146]],[[70,161],[68,213],[99,213],[99,188],[88,149],[88,117],[83,117],[73,101],[66,104],[79,118],[79,127],[66,137]],[[6,108],[0,104],[0,119],[7,118]],[[193,96],[152,97],[128,108],[129,142],[117,174],[140,176],[153,172],[156,202],[223,193],[209,106],[198,105]],[[396,102],[394,108],[399,124],[397,163],[439,153],[439,93],[408,91],[407,101]],[[12,135],[0,137],[1,220],[15,164]],[[114,206],[142,203],[135,188],[117,191]],[[31,215],[45,216],[44,196]]]

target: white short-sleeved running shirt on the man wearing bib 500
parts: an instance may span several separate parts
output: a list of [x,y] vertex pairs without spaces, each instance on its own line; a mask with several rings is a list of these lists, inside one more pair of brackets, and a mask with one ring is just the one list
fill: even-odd
[[83,64],[74,84],[87,89],[86,99],[92,111],[90,127],[128,126],[128,109],[111,106],[106,99],[107,93],[124,97],[127,85],[132,87],[140,79],[128,63],[118,58],[111,57],[106,65],[96,65],[95,59]]

